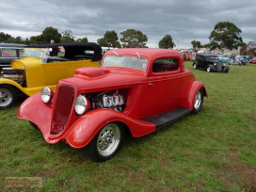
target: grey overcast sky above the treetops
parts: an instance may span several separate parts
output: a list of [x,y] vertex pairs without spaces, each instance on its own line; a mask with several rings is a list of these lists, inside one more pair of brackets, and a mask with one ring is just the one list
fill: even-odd
[[0,0],[0,32],[22,39],[38,36],[52,26],[59,33],[97,42],[106,31],[136,29],[157,47],[167,34],[175,48],[201,44],[218,22],[231,22],[242,30],[243,41],[256,40],[255,0]]

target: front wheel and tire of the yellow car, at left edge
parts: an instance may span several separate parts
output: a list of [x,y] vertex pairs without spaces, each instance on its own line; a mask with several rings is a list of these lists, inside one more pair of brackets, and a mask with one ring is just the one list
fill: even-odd
[[17,102],[17,92],[15,88],[8,85],[0,85],[0,110],[10,108]]

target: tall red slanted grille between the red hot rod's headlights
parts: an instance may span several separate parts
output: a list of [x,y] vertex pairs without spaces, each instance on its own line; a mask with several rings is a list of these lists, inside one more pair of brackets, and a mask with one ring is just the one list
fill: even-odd
[[51,125],[51,135],[61,133],[69,122],[72,103],[74,98],[74,88],[71,86],[59,86],[56,93],[56,106]]

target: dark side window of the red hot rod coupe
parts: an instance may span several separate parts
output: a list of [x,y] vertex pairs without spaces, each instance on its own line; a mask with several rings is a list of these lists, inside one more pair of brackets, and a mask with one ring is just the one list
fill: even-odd
[[176,58],[165,58],[155,60],[152,65],[152,72],[171,72],[179,68],[178,60]]

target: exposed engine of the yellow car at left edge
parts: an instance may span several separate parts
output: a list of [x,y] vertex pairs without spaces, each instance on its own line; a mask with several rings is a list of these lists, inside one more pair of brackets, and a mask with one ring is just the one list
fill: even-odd
[[24,71],[17,70],[14,68],[3,68],[2,72],[0,73],[0,78],[11,79],[19,83],[21,86],[25,85]]

